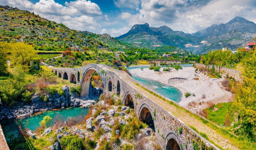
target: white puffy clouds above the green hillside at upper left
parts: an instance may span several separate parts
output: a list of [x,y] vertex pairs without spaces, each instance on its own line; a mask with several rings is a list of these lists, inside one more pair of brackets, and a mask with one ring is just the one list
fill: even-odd
[[62,22],[71,29],[95,30],[101,27],[94,19],[94,16],[102,14],[100,7],[87,0],[65,2],[65,6],[54,0],[39,0],[36,4],[28,0],[2,0],[0,4],[33,11],[46,19]]

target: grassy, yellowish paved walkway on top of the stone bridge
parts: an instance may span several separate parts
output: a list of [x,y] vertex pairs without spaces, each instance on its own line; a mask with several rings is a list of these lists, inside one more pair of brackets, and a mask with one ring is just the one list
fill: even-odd
[[[130,85],[135,88],[137,91],[144,94],[146,97],[150,98],[152,101],[163,107],[165,110],[167,110],[169,113],[176,116],[178,119],[180,119],[182,122],[184,122],[186,125],[194,127],[198,132],[204,133],[209,138],[209,141],[212,143],[215,143],[217,146],[221,147],[222,149],[232,149],[236,150],[239,149],[234,142],[237,142],[235,138],[228,137],[228,135],[220,134],[217,130],[215,130],[213,127],[210,127],[202,122],[200,117],[195,117],[195,114],[189,112],[188,110],[177,107],[175,105],[170,104],[167,101],[164,101],[163,99],[149,93],[149,91],[143,89],[141,86],[136,85],[134,80],[124,71],[119,72],[115,71],[115,69],[110,69],[107,66],[101,65],[102,68],[106,70],[111,70],[117,73],[123,80],[125,80],[127,83],[130,83]],[[220,131],[222,132],[222,131]]]

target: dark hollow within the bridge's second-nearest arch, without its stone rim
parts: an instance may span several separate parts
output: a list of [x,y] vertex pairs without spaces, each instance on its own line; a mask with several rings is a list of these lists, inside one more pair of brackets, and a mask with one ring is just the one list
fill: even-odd
[[152,128],[155,131],[154,120],[152,115],[147,107],[143,107],[139,114],[139,120],[146,123],[149,128]]

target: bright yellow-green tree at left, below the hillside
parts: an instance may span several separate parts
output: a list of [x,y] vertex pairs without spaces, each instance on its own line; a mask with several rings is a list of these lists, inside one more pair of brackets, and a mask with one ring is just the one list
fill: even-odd
[[30,65],[30,61],[35,58],[36,51],[33,49],[32,45],[19,42],[9,43],[11,60],[13,64]]

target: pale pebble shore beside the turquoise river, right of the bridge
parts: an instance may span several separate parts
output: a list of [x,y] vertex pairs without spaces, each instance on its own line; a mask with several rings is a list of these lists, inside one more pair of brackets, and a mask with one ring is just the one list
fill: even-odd
[[[217,104],[233,100],[232,93],[226,91],[221,84],[221,81],[224,80],[223,78],[210,78],[199,71],[195,72],[194,67],[183,67],[181,70],[175,70],[172,68],[170,71],[162,71],[162,69],[163,68],[161,68],[159,72],[149,70],[148,68],[144,68],[144,70],[138,68],[129,70],[129,72],[132,76],[152,79],[165,85],[178,88],[182,93],[182,100],[179,104],[185,107],[188,107],[188,104],[192,101],[202,102],[203,104],[206,104],[206,102]],[[184,79],[170,79],[175,77]],[[198,80],[195,78],[198,78]],[[184,96],[186,92],[191,93],[191,96],[186,98]],[[192,96],[193,93],[195,96]],[[205,98],[202,98],[202,95],[205,95]],[[198,107],[194,108],[198,110],[205,106],[200,105],[195,107]]]

